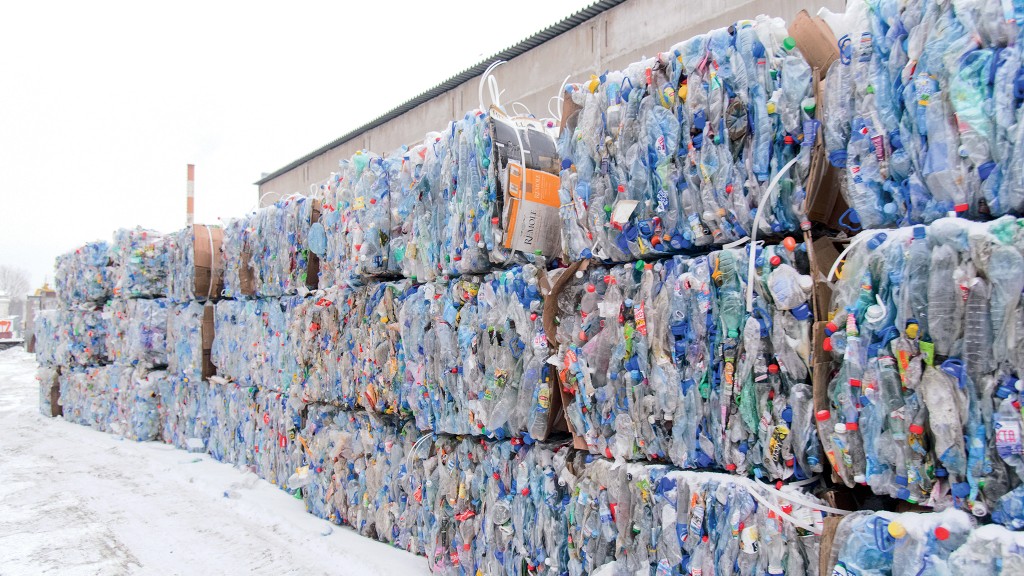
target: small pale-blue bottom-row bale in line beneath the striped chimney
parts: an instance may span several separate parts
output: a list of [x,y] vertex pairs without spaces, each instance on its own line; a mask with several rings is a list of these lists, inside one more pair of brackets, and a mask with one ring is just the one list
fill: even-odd
[[210,383],[199,372],[175,374],[168,371],[157,379],[157,387],[163,441],[181,450],[205,451],[210,438],[207,409]]

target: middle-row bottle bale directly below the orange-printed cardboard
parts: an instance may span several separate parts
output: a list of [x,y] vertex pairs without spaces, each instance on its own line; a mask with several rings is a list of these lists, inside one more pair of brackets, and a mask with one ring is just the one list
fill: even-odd
[[547,436],[540,271],[514,266],[411,291],[399,315],[404,397],[421,429]]

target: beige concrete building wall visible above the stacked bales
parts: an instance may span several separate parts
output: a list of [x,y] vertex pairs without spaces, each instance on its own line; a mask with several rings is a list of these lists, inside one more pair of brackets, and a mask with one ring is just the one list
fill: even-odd
[[[631,0],[513,58],[495,76],[505,90],[502,104],[506,108],[520,101],[535,116],[547,117],[548,101],[558,94],[566,75],[569,82],[578,82],[591,74],[621,70],[677,42],[758,14],[790,20],[801,9],[813,14],[820,7],[839,11],[845,5],[845,0]],[[261,204],[296,192],[308,194],[310,186],[338,169],[339,160],[359,150],[383,154],[403,143],[422,141],[427,132],[441,130],[477,108],[478,80],[474,78],[264,182],[259,187]]]

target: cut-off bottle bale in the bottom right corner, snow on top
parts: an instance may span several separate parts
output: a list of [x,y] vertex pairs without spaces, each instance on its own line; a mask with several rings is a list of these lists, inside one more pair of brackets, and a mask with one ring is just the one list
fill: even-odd
[[1024,533],[975,527],[961,510],[854,512],[833,540],[833,574],[1024,574]]

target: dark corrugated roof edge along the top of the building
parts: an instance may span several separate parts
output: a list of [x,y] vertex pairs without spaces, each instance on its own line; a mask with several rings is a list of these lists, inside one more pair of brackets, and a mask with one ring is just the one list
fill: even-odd
[[601,12],[604,12],[609,8],[613,8],[624,2],[626,2],[626,0],[600,0],[598,2],[594,2],[590,6],[587,6],[586,8],[573,12],[569,16],[563,18],[562,20],[553,24],[548,28],[545,28],[541,32],[538,32],[537,34],[526,38],[522,42],[510,46],[502,50],[501,52],[498,52],[497,54],[488,58],[485,58],[470,68],[467,68],[466,70],[460,72],[459,74],[456,74],[452,78],[449,78],[447,80],[441,82],[440,84],[434,86],[433,88],[430,88],[426,92],[423,92],[422,94],[406,101],[404,104],[398,106],[397,108],[394,108],[391,111],[371,120],[370,122],[364,124],[362,126],[359,126],[358,128],[352,130],[351,132],[344,134],[340,138],[328,142],[322,146],[321,148],[310,152],[309,154],[303,156],[302,158],[299,158],[298,160],[295,160],[289,163],[288,165],[279,168],[273,172],[270,172],[269,174],[256,180],[256,182],[254,183],[259,186],[269,180],[272,180],[273,178],[276,178],[278,176],[305,164],[306,162],[312,160],[313,158],[316,158],[317,156],[324,154],[325,152],[338,148],[339,146],[347,142],[348,140],[351,140],[352,138],[355,138],[382,124],[394,120],[395,118],[401,116],[402,114],[406,114],[407,112],[420,106],[421,104],[428,101],[432,98],[435,98],[443,94],[444,92],[447,92],[449,90],[452,90],[453,88],[456,88],[472,80],[473,78],[480,76],[481,74],[483,74],[483,71],[486,70],[487,66],[490,65],[490,63],[497,59],[510,60],[516,56],[519,56],[540,46],[541,44],[544,44],[548,40],[551,40],[556,36],[568,32],[569,30],[572,30],[573,28],[582,25],[583,23],[589,20],[590,18],[600,14]]

